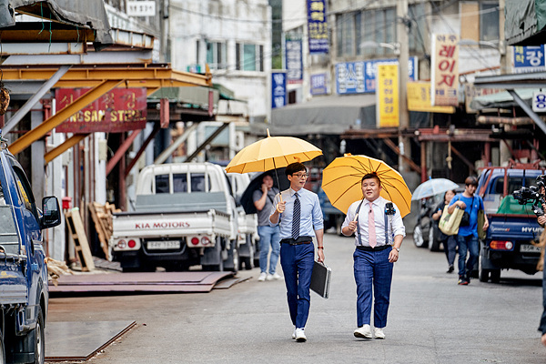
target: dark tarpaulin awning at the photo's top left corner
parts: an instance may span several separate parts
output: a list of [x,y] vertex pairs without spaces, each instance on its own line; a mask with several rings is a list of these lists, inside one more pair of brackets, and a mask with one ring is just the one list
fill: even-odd
[[15,25],[15,13],[92,29],[96,49],[113,44],[102,0],[0,0],[0,28]]

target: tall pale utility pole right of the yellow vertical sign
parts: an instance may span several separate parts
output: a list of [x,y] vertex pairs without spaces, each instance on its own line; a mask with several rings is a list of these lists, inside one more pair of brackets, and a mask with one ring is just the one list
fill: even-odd
[[397,42],[399,44],[399,172],[409,172],[410,165],[402,156],[411,159],[410,138],[402,136],[401,132],[410,126],[408,112],[407,87],[408,83],[408,0],[397,0]]

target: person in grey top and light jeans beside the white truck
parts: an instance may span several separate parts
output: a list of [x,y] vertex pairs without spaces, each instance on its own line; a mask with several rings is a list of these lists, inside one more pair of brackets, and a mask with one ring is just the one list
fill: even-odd
[[[280,254],[280,230],[278,226],[269,226],[269,213],[273,209],[273,199],[277,194],[278,188],[273,187],[273,177],[266,174],[262,177],[261,189],[257,189],[252,195],[254,206],[258,211],[259,282],[263,282],[266,279],[282,278],[276,271],[278,255]],[[269,257],[268,273],[269,247],[271,248],[271,255]]]

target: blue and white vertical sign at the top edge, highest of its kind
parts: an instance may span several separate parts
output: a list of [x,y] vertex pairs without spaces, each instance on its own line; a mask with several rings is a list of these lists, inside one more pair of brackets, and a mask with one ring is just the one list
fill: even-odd
[[329,52],[326,0],[307,0],[309,53]]

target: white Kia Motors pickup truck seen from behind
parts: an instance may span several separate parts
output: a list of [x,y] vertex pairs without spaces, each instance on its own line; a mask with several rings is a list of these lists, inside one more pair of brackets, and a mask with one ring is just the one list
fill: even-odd
[[222,167],[147,166],[136,182],[135,207],[114,214],[109,241],[124,271],[238,270],[238,210]]

